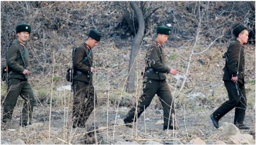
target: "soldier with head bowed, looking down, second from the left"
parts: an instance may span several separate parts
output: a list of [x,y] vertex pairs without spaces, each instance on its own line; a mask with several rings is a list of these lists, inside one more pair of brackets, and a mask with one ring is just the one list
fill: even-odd
[[[97,30],[91,30],[89,37],[75,51],[73,58],[74,65],[74,103],[73,103],[73,128],[85,127],[85,121],[94,110],[94,101],[97,103],[97,96],[93,86],[93,50],[103,35]],[[85,60],[85,61],[83,61]]]

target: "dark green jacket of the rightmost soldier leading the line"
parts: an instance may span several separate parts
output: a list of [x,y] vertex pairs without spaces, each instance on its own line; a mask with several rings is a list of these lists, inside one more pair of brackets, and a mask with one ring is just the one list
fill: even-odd
[[[238,65],[238,58],[239,58],[239,49],[240,50],[240,62]],[[244,82],[244,46],[240,44],[240,42],[237,40],[233,42],[228,47],[228,62],[226,62],[226,68],[227,70],[223,74],[223,80],[229,80],[232,81],[232,77],[238,76],[238,82],[239,83],[245,83]],[[239,73],[237,74],[237,67],[239,67]]]

